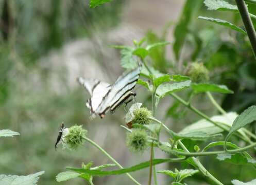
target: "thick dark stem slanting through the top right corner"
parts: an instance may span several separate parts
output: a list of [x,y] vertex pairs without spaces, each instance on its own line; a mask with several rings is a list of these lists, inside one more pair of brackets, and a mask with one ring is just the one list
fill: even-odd
[[[244,0],[235,0],[237,8],[240,12],[240,15],[242,17],[243,23],[245,25],[246,32],[248,34],[252,51],[254,54],[254,57],[256,56],[256,32],[254,30],[253,24],[251,22],[251,18],[248,12],[248,8],[244,2]],[[256,58],[256,57],[255,57]]]

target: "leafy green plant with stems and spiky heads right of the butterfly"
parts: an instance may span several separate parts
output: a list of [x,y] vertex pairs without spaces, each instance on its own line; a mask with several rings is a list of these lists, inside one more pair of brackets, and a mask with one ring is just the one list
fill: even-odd
[[[106,1],[102,1],[101,3],[105,3]],[[215,19],[212,17],[202,17],[199,16],[203,20],[208,20],[210,22],[220,24],[231,28],[235,31],[241,32],[244,35],[249,35],[249,32],[253,32],[254,29],[251,26],[250,16],[255,18],[253,14],[249,14],[247,9],[246,12],[244,10],[241,11],[239,1],[236,1],[238,5],[238,9],[242,17],[246,14],[246,18],[249,21],[250,26],[247,26],[247,21],[243,17],[243,21],[246,27],[246,31],[240,27],[237,27],[227,21]],[[100,3],[100,4],[101,4]],[[186,10],[186,8],[191,7],[192,4],[195,4],[196,7],[200,7],[202,1],[192,2],[187,1],[185,4],[184,11],[189,16],[193,15],[193,11],[196,10]],[[253,2],[252,2],[253,3]],[[226,10],[226,11],[238,11],[235,5],[230,5],[227,2],[215,0],[215,1],[204,1],[209,9],[212,10]],[[187,7],[186,7],[187,6]],[[185,15],[185,16],[188,16]],[[191,17],[190,17],[191,18]],[[189,23],[180,22],[180,27],[187,27]],[[186,25],[184,25],[186,24]],[[176,31],[180,28],[177,26]],[[253,30],[251,30],[253,29]],[[184,32],[177,32],[178,34],[184,34]],[[176,35],[176,38],[178,36]],[[250,43],[252,45],[256,44],[256,40],[253,39],[249,35]],[[118,49],[121,49],[121,65],[125,69],[132,69],[136,66],[136,60],[140,60],[142,63],[142,72],[141,76],[146,79],[146,81],[140,79],[138,81],[139,85],[144,86],[148,93],[151,94],[151,104],[152,104],[152,115],[148,112],[144,114],[147,110],[141,108],[142,104],[138,103],[136,109],[135,106],[132,105],[131,109],[127,113],[126,116],[127,123],[131,122],[131,128],[125,128],[128,132],[127,134],[127,144],[132,149],[133,152],[144,152],[147,149],[147,146],[150,145],[150,159],[149,161],[134,165],[130,168],[125,168],[121,170],[113,170],[113,171],[101,171],[101,170],[92,170],[92,169],[75,169],[75,168],[67,168],[71,171],[74,171],[78,174],[89,174],[91,176],[106,176],[106,175],[120,175],[123,173],[134,172],[143,168],[149,168],[149,181],[148,184],[151,184],[151,176],[154,177],[154,183],[158,184],[157,175],[155,165],[163,162],[181,162],[184,161],[197,170],[181,170],[178,171],[175,169],[175,172],[170,170],[162,170],[159,173],[167,174],[174,178],[174,182],[172,184],[185,184],[181,181],[191,176],[195,173],[201,173],[206,177],[206,180],[209,180],[210,183],[214,184],[223,184],[221,180],[214,177],[200,162],[200,158],[202,156],[217,156],[216,159],[220,161],[232,162],[236,164],[250,164],[254,168],[256,168],[256,162],[251,157],[251,155],[247,151],[255,150],[255,139],[256,135],[253,132],[247,130],[246,125],[249,125],[253,121],[256,120],[256,106],[250,106],[240,115],[236,113],[226,113],[223,108],[216,102],[211,93],[220,93],[220,94],[233,94],[234,92],[230,90],[225,85],[217,85],[214,83],[208,82],[209,80],[209,72],[203,64],[192,63],[189,66],[189,72],[187,75],[169,75],[168,73],[162,73],[158,71],[153,65],[149,65],[149,59],[152,56],[150,54],[153,52],[152,50],[155,48],[165,47],[170,44],[168,42],[158,42],[158,43],[150,43],[145,44],[146,39],[142,39],[140,42],[134,41],[134,46],[115,46]],[[179,59],[182,57],[180,55],[180,49],[185,42],[185,38],[176,42],[174,44],[174,51],[176,54],[176,58]],[[156,51],[155,51],[156,52]],[[197,51],[198,52],[198,51]],[[180,60],[180,59],[179,59]],[[151,60],[153,63],[153,60]],[[165,61],[164,61],[165,62]],[[179,66],[177,66],[179,67]],[[177,71],[177,69],[174,68]],[[179,70],[179,69],[178,69]],[[192,81],[191,81],[191,80]],[[179,91],[189,92],[188,100],[184,100],[180,95],[176,93]],[[201,112],[198,108],[192,105],[193,99],[195,96],[200,94],[206,94],[212,103],[212,105],[219,110],[222,115],[218,115],[215,117],[209,117],[203,112]],[[164,122],[159,121],[155,118],[158,104],[161,99],[166,97],[172,97],[180,104],[183,104],[185,108],[190,109],[193,113],[202,118],[199,122],[196,122],[192,125],[185,127],[181,132],[174,132],[172,129],[168,128]],[[143,114],[137,114],[141,112]],[[130,114],[130,115],[129,115]],[[146,115],[146,116],[145,116]],[[141,123],[143,120],[143,123]],[[134,121],[134,122],[133,122]],[[152,121],[152,122],[149,122]],[[145,124],[146,123],[146,124]],[[202,124],[205,123],[205,124]],[[167,142],[163,142],[160,140],[160,133],[162,130],[165,130],[169,134],[169,140]],[[223,138],[223,134],[225,136],[225,140],[221,140]],[[239,147],[232,142],[229,142],[231,136],[234,136],[236,139],[241,142],[247,144],[246,146]],[[187,146],[183,143],[184,140],[195,140],[195,141],[204,141],[207,142],[209,139],[214,142],[210,142],[207,146],[203,147],[200,151],[200,147],[198,145],[194,145],[193,148],[196,152],[191,152],[187,149]],[[147,144],[147,143],[150,144]],[[214,150],[216,146],[222,146],[223,150]],[[161,151],[168,153],[174,158],[167,159],[155,159],[154,157],[154,149],[159,148]],[[229,148],[229,149],[228,149]],[[208,151],[209,149],[214,151]],[[255,169],[253,169],[255,170]],[[138,182],[135,182],[138,184]],[[236,184],[237,181],[233,180],[232,183]]]

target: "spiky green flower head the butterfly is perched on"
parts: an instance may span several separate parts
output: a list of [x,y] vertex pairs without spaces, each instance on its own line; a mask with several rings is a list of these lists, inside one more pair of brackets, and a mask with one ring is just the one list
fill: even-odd
[[151,123],[151,120],[149,120],[148,117],[151,117],[152,113],[146,107],[135,109],[133,111],[133,114],[134,114],[134,119],[132,120],[133,124],[149,124],[149,123]]

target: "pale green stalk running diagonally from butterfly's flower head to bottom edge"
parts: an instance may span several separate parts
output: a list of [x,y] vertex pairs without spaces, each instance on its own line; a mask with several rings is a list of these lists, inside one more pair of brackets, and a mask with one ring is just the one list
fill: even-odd
[[[156,118],[152,118],[152,117],[148,117],[148,119],[152,120],[152,121],[155,121],[159,124],[161,124],[165,130],[167,132],[169,132],[169,128],[163,124],[161,121],[157,120]],[[179,151],[174,151],[175,154],[178,154],[178,155],[184,155],[184,156],[193,156],[193,155],[190,155],[190,154],[195,154],[195,153],[190,153],[189,150],[187,150],[186,146],[180,141],[178,140],[177,141],[179,143],[179,145],[182,147],[182,149],[186,152],[179,152]],[[177,153],[176,153],[177,152]],[[225,151],[224,151],[225,152]],[[182,153],[182,154],[181,154]],[[198,154],[198,153],[196,153]],[[208,172],[206,170],[206,168],[203,167],[203,165],[201,164],[201,162],[199,161],[199,159],[195,158],[195,157],[192,157],[193,161],[195,162],[195,164],[197,165],[197,168],[198,170],[205,176],[207,176],[208,178],[210,178],[212,181],[214,181],[215,184],[218,184],[218,185],[223,185],[223,183],[221,183],[218,179],[216,179],[210,172]]]

